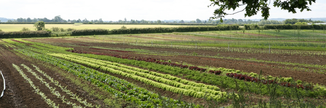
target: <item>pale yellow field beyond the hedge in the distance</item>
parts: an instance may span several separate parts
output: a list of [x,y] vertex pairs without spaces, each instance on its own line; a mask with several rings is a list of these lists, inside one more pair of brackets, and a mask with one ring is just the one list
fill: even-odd
[[[46,24],[45,28],[50,29],[52,27],[59,28],[74,28],[74,29],[120,29],[122,26],[127,28],[153,28],[153,27],[180,27],[180,25],[111,25],[111,24]],[[30,30],[34,30],[33,24],[0,24],[0,29],[3,31],[19,31],[23,27]]]

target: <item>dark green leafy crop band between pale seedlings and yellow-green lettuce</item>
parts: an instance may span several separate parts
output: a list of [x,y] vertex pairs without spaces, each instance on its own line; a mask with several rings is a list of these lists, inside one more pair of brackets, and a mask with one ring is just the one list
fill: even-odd
[[[68,72],[71,72],[72,74],[74,74],[80,78],[84,78],[88,81],[91,81],[92,83],[96,84],[98,87],[102,87],[103,89],[107,90],[108,92],[115,94],[117,97],[121,97],[121,98],[125,99],[126,101],[135,102],[136,104],[141,105],[142,107],[150,108],[153,106],[153,103],[154,104],[170,104],[171,106],[174,106],[174,107],[194,106],[194,105],[191,105],[191,104],[183,102],[183,101],[176,101],[176,100],[168,99],[168,98],[163,98],[164,100],[166,100],[166,101],[164,101],[166,103],[161,103],[163,101],[159,99],[159,95],[152,93],[150,91],[147,91],[145,89],[142,89],[140,87],[134,86],[133,84],[126,82],[123,79],[119,79],[114,76],[110,76],[108,74],[98,72],[94,69],[90,69],[88,67],[84,67],[84,66],[81,66],[81,65],[78,65],[75,63],[71,63],[66,60],[51,57],[48,55],[37,54],[37,53],[33,53],[31,51],[23,50],[23,49],[18,49],[15,51],[22,53],[24,55],[39,59],[41,61],[48,62],[55,66],[58,66]],[[115,88],[115,89],[113,89],[113,88]],[[130,88],[130,89],[128,89],[128,88]],[[124,91],[125,93],[122,93],[120,90]],[[194,107],[199,108],[202,106],[195,105]]]

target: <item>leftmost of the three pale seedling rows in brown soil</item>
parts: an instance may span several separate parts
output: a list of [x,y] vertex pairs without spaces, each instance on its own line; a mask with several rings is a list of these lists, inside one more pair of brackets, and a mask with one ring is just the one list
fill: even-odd
[[35,91],[35,93],[37,93],[37,94],[39,94],[44,100],[45,100],[45,102],[48,104],[48,105],[50,105],[51,107],[53,107],[53,108],[59,108],[59,104],[58,105],[55,105],[55,103],[53,102],[53,101],[51,101],[50,99],[47,99],[47,96],[45,96],[45,94],[42,92],[42,91],[40,91],[39,89],[38,89],[38,87],[37,86],[35,86],[34,85],[34,83],[33,83],[33,81],[30,79],[30,78],[28,78],[27,76],[26,76],[26,74],[24,74],[24,72],[22,71],[22,69],[20,69],[20,67],[19,66],[17,66],[17,65],[15,65],[15,64],[12,64],[12,66],[14,67],[14,68],[16,68],[16,70],[19,72],[19,74],[20,75],[22,75],[22,77],[31,85],[31,87],[34,89],[33,91]]

